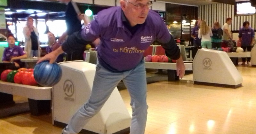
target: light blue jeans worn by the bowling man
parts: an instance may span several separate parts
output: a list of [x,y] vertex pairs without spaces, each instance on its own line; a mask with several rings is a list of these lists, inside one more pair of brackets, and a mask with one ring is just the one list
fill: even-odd
[[144,134],[147,122],[147,82],[145,62],[142,60],[134,69],[113,73],[102,67],[96,66],[96,73],[92,86],[92,94],[79,110],[73,115],[68,125],[62,130],[63,134],[78,133],[83,129],[88,119],[97,114],[116,85],[123,80],[131,96],[132,121],[130,134]]

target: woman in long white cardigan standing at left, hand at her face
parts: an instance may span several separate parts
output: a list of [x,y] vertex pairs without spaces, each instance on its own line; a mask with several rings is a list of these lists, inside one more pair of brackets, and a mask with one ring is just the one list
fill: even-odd
[[28,57],[40,57],[41,47],[39,42],[39,33],[37,28],[33,26],[33,18],[28,17],[27,26],[23,28],[23,35],[25,36],[25,48],[24,51]]

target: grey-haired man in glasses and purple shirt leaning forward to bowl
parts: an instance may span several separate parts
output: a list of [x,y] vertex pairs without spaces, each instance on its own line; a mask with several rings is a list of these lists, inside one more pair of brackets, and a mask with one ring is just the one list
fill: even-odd
[[63,129],[63,134],[82,130],[89,118],[99,112],[121,80],[131,96],[130,133],[144,134],[148,105],[143,52],[154,40],[162,44],[167,56],[177,60],[179,78],[185,73],[179,47],[160,16],[149,10],[152,3],[149,0],[120,0],[120,5],[99,12],[84,29],[70,35],[60,48],[38,61],[50,60],[52,63],[63,51],[74,51],[100,38],[92,94]]

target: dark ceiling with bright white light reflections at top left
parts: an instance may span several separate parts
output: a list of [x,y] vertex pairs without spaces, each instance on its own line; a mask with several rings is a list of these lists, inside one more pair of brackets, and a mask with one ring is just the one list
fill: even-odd
[[[81,3],[77,5],[82,12],[89,7],[93,14],[109,7]],[[5,16],[13,20],[25,19],[28,16],[39,19],[64,20],[66,6],[58,1],[9,0],[5,7]]]

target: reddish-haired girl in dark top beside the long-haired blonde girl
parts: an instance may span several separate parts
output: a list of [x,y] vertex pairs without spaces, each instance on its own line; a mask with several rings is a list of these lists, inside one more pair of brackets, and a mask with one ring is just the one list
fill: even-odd
[[223,30],[219,22],[215,22],[212,28],[212,48],[220,48],[222,41]]

